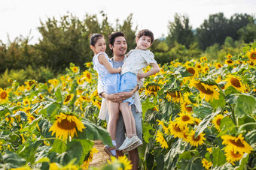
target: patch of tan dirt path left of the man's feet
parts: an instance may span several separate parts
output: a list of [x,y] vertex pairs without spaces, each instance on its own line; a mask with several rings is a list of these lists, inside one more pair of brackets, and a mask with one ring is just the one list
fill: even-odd
[[107,163],[107,160],[109,160],[109,156],[104,151],[104,145],[102,144],[102,141],[95,141],[93,147],[96,148],[99,152],[93,154],[93,161],[92,163],[90,163],[89,167],[101,167],[105,163]]

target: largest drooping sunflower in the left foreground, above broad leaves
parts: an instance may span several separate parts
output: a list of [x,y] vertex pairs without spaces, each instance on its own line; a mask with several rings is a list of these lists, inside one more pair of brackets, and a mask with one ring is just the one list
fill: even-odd
[[56,133],[56,138],[66,140],[68,136],[71,138],[78,136],[77,130],[83,131],[84,124],[75,116],[75,115],[65,115],[60,113],[60,115],[55,116],[56,121],[54,122],[53,126],[50,127],[50,131],[52,132],[52,136]]

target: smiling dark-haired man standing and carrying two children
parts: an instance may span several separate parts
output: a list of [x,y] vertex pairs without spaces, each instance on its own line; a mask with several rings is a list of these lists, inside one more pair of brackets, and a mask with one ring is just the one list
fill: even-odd
[[[111,58],[111,61],[113,62],[114,67],[122,67],[123,61],[126,59],[125,54],[127,49],[126,38],[124,34],[122,32],[112,33],[108,37],[108,43],[111,51],[113,52],[113,58]],[[103,88],[101,87],[101,83],[98,84],[98,93],[100,96],[103,97],[102,108],[99,114],[99,118],[105,118],[104,115],[105,115],[105,112],[107,112],[105,100],[111,100],[112,102],[120,103],[123,100],[126,100],[127,98],[132,97],[134,94],[134,104],[132,105],[132,112],[133,112],[133,117],[135,118],[135,121],[136,121],[136,133],[139,139],[141,140],[142,140],[142,105],[140,103],[138,89],[139,87],[143,86],[143,81],[144,79],[138,82],[138,85],[136,86],[136,88],[133,89],[133,91],[121,92],[117,94],[105,93],[102,90]],[[106,117],[108,121],[108,115]],[[115,141],[117,142],[116,149],[118,149],[120,145],[123,144],[124,139],[125,139],[125,127],[123,123],[122,114],[120,113],[117,121],[116,136],[115,136]],[[133,164],[133,169],[138,169],[139,152],[137,148],[135,149],[130,148],[127,151],[129,153],[129,160],[131,160]],[[123,155],[123,152],[117,151],[117,156],[122,156],[122,155]]]

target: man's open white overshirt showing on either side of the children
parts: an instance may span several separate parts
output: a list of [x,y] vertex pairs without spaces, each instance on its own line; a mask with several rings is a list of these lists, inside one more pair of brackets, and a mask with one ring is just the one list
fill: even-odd
[[[125,61],[126,58],[127,58],[127,56],[125,55],[123,58],[123,61]],[[112,58],[111,58],[111,60],[112,60]],[[139,70],[139,73],[143,73],[143,70]],[[143,83],[144,83],[144,79],[140,79],[138,82],[139,88],[143,87]],[[105,91],[102,88],[101,79],[98,77],[98,95],[99,95],[99,97],[102,97],[101,96],[102,92],[105,92]],[[137,112],[142,112],[142,103],[141,103],[141,99],[139,98],[139,91],[135,92],[135,94],[133,96],[133,100],[134,100],[134,105],[136,106]],[[102,97],[102,105],[99,110],[98,118],[105,120],[107,113],[108,113],[107,100]]]

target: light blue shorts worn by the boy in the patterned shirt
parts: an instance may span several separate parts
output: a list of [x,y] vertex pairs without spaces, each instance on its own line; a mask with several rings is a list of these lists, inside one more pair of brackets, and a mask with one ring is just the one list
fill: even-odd
[[[137,76],[135,73],[127,72],[120,77],[119,91],[132,91],[137,85]],[[133,104],[133,97],[124,100],[123,102],[129,102],[129,105]]]

